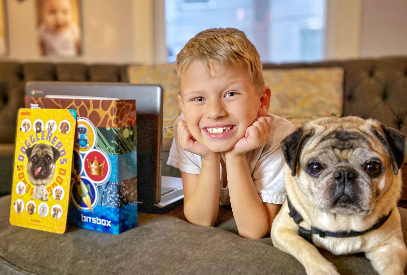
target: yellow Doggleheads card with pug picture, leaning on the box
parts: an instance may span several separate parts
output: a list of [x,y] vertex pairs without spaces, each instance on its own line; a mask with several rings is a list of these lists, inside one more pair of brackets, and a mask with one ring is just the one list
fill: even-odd
[[12,225],[65,232],[76,117],[75,110],[18,110]]

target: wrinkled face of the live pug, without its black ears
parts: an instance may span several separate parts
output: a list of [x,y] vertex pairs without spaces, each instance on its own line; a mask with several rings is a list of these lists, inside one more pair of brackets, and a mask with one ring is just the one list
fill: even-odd
[[359,130],[345,128],[304,149],[300,169],[300,188],[315,206],[339,214],[370,214],[393,173],[381,144]]

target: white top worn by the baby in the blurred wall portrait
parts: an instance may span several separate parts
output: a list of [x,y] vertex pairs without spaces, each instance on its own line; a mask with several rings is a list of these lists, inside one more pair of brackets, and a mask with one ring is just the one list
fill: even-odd
[[45,24],[38,28],[38,38],[44,46],[45,55],[76,56],[79,36],[79,27],[74,23],[62,32],[50,31]]

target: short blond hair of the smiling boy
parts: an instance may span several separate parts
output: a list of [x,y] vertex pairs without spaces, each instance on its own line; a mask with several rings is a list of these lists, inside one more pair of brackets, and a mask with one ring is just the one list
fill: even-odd
[[260,55],[241,30],[213,28],[199,32],[177,54],[178,76],[194,61],[206,66],[209,74],[214,65],[242,69],[249,73],[254,87],[264,87]]

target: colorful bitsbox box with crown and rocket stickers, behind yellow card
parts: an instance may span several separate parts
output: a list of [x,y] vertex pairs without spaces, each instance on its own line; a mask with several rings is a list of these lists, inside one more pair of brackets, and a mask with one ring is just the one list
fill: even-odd
[[136,226],[136,101],[26,97],[26,106],[77,110],[68,220],[112,234]]

